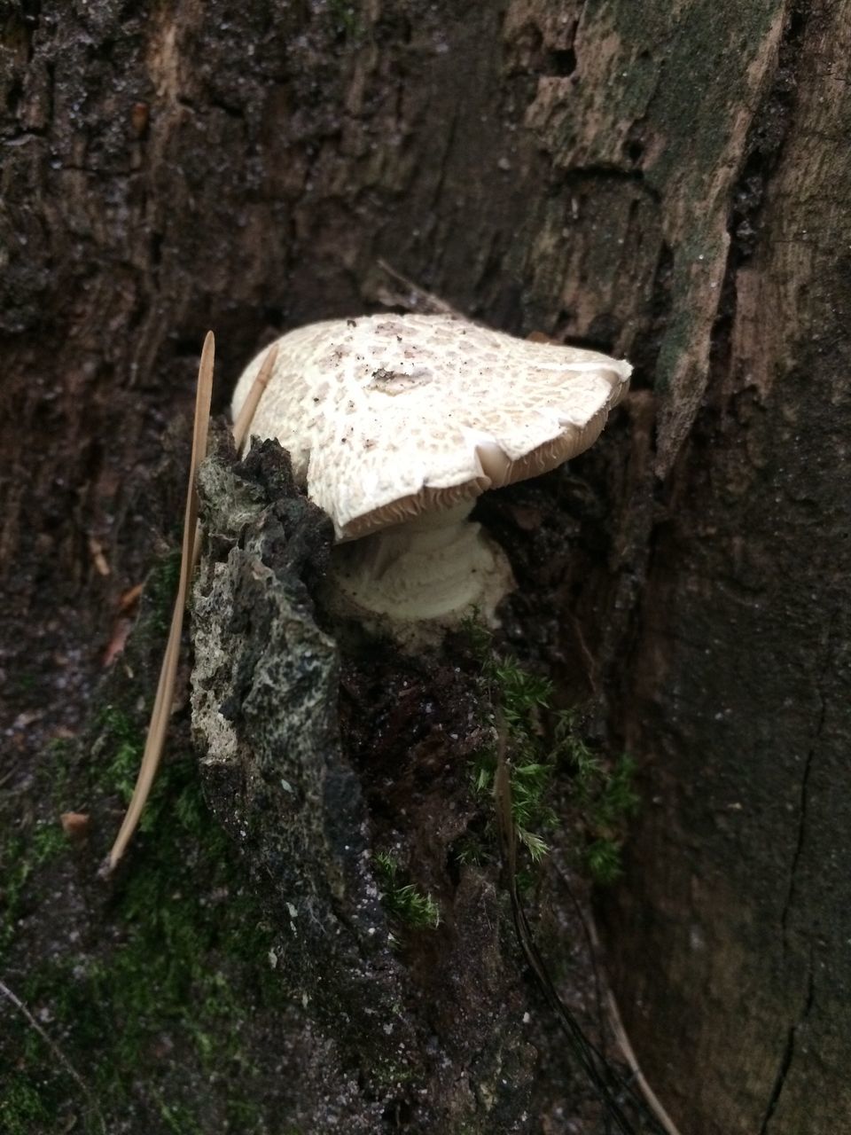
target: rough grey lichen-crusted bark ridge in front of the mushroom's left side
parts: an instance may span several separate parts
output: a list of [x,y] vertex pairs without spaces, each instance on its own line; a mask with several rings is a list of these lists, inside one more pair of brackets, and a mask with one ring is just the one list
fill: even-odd
[[271,880],[283,980],[311,1015],[337,1029],[356,1018],[359,1046],[389,1056],[411,1025],[394,1010],[365,805],[340,750],[337,648],[302,580],[321,575],[330,521],[280,459],[266,443],[250,460],[277,482],[272,506],[230,464],[208,460],[199,479],[210,554],[193,605],[193,728],[213,813]]

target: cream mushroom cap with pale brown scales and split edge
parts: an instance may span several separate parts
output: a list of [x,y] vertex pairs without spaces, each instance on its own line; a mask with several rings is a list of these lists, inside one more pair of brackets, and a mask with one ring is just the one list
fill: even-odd
[[[261,359],[237,384],[235,417]],[[631,371],[448,314],[329,320],[278,340],[250,432],[280,442],[338,539],[352,539],[582,453]]]

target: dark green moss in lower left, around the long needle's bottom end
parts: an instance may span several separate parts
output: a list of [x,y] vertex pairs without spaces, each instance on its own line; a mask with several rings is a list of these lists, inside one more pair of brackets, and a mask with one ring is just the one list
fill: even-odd
[[[142,748],[138,728],[123,711],[108,706],[101,722],[107,759],[87,763],[90,783],[83,790],[77,782],[70,797],[94,801],[95,812],[106,810],[99,800],[128,798]],[[209,1129],[208,1102],[192,1085],[222,1081],[229,1090],[217,1115],[225,1111],[229,1129],[266,1130],[256,1102],[262,1093],[251,1083],[256,1053],[245,1046],[242,1026],[258,1004],[283,1008],[268,960],[272,928],[233,846],[208,814],[193,757],[167,762],[144,827],[148,838],[134,844],[96,919],[100,940],[84,955],[51,949],[32,962],[15,958],[17,922],[24,907],[33,910],[45,898],[50,873],[62,869],[70,843],[58,823],[37,824],[10,841],[3,849],[0,961],[18,970],[16,992],[36,1016],[45,1015],[51,1037],[108,1117],[141,1108],[155,1117],[152,1129],[201,1133]],[[87,869],[93,876],[94,865]],[[23,1017],[12,1034],[6,1068],[0,1051],[0,1129],[60,1129],[69,1108],[85,1108],[79,1087]],[[84,1129],[101,1130],[91,1109]]]

